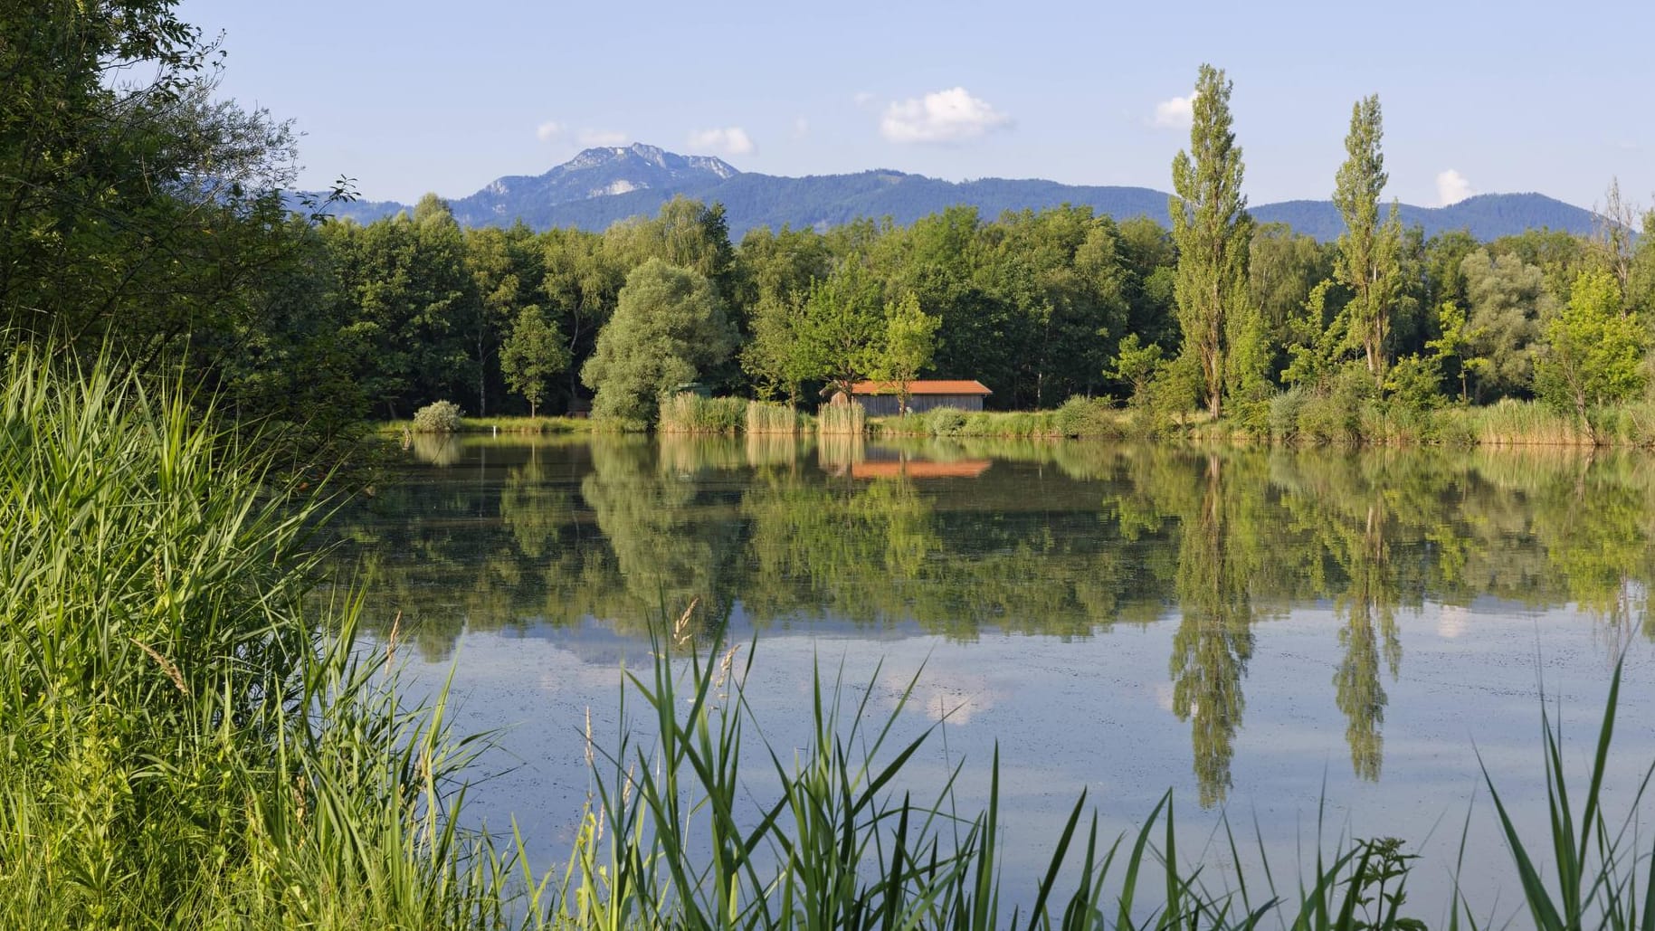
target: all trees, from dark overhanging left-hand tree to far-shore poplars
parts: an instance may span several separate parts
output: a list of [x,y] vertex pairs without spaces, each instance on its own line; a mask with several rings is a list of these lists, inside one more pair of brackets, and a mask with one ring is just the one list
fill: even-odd
[[[1346,235],[1246,210],[1231,84],[1202,66],[1172,230],[1086,207],[897,227],[758,228],[674,200],[596,233],[291,212],[291,127],[213,99],[218,48],[169,0],[0,13],[7,341],[108,352],[306,435],[401,418],[591,410],[664,394],[814,405],[861,379],[978,379],[990,407],[1114,397],[1261,427],[1269,407],[1504,397],[1589,413],[1648,384],[1655,215],[1614,189],[1595,236],[1425,238],[1380,203],[1377,98],[1329,167]],[[146,64],[151,79],[111,81]]]

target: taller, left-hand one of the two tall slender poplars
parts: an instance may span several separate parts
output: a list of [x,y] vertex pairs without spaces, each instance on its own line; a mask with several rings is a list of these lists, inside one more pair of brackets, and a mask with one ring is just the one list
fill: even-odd
[[[1251,342],[1248,311],[1248,246],[1253,217],[1241,193],[1241,147],[1230,117],[1231,83],[1211,64],[1202,64],[1195,81],[1195,119],[1190,150],[1172,160],[1172,238],[1178,246],[1175,296],[1183,352],[1202,369],[1206,410],[1220,415],[1225,382],[1231,372],[1231,346],[1241,336]],[[1256,352],[1243,352],[1251,364]]]

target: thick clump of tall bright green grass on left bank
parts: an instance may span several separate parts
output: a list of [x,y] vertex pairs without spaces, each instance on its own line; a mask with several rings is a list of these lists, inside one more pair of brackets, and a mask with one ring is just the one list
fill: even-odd
[[314,489],[179,392],[3,374],[0,928],[492,926],[467,744],[303,610]]

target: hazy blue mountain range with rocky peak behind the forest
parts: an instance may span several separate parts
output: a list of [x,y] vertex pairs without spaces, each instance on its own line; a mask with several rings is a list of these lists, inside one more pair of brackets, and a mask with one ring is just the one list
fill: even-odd
[[[543,175],[508,175],[450,200],[468,227],[505,227],[518,220],[536,230],[579,227],[602,230],[617,220],[654,215],[672,197],[723,203],[730,236],[755,227],[828,228],[851,220],[890,217],[912,223],[947,207],[971,205],[985,218],[1006,210],[1089,205],[1117,220],[1149,217],[1170,223],[1167,193],[1149,187],[1066,185],[1051,180],[980,179],[948,182],[895,170],[846,175],[781,177],[741,172],[710,155],[679,155],[655,146],[586,149]],[[334,205],[336,217],[367,223],[410,205],[357,200]],[[1288,223],[1301,233],[1332,240],[1344,230],[1331,200],[1284,200],[1251,207],[1259,223]],[[1481,193],[1448,207],[1398,207],[1405,227],[1425,235],[1470,230],[1480,240],[1529,228],[1589,233],[1594,215],[1541,193]]]

